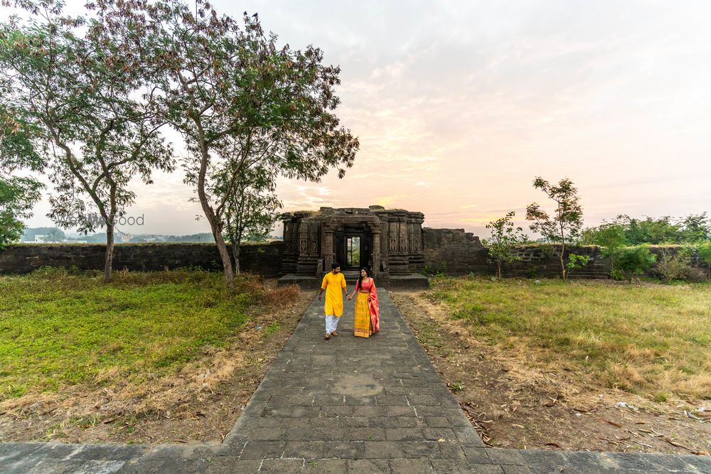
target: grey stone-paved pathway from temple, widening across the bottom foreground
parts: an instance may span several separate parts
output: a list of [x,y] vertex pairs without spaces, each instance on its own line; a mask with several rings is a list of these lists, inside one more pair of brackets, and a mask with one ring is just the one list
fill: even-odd
[[385,291],[324,340],[314,300],[221,445],[0,444],[0,473],[706,473],[708,456],[484,448]]

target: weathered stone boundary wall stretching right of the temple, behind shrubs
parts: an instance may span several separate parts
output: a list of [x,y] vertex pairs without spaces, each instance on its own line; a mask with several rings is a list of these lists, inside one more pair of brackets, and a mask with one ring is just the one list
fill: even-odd
[[[422,229],[423,253],[425,269],[437,273],[442,271],[449,275],[466,275],[469,273],[495,275],[496,264],[488,262],[488,250],[483,247],[479,237],[464,232],[463,229]],[[675,254],[681,246],[649,247],[659,259],[665,252]],[[568,247],[567,254],[589,255],[590,259],[583,269],[570,273],[570,278],[608,279],[610,278],[609,261],[602,258],[599,247],[583,246]],[[560,276],[560,261],[552,249],[543,245],[520,247],[517,252],[521,260],[501,267],[502,276],[522,277],[557,277]],[[707,267],[700,262],[698,253],[692,255],[693,266],[704,273]],[[653,276],[653,270],[648,276]]]

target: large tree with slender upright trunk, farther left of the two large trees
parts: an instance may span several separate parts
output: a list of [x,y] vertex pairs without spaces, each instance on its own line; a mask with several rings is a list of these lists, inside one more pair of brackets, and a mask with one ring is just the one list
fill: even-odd
[[90,212],[106,226],[105,279],[112,277],[114,227],[135,195],[134,176],[173,169],[172,152],[159,134],[154,92],[145,68],[114,42],[100,21],[63,15],[53,0],[17,1],[31,16],[0,26],[0,81],[8,109],[21,113],[35,132],[28,138],[45,153],[56,193],[49,216],[60,227],[92,232]]

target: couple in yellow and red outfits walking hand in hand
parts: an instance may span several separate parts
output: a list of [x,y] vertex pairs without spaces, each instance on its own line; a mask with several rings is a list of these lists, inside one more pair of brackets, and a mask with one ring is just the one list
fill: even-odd
[[[325,339],[337,336],[338,320],[343,315],[343,295],[348,301],[355,298],[355,320],[353,321],[353,335],[360,338],[369,338],[370,335],[380,330],[380,309],[378,308],[378,293],[375,291],[375,282],[370,277],[368,269],[360,269],[360,278],[355,284],[353,293],[348,294],[346,278],[341,273],[341,266],[331,265],[331,271],[324,276],[319,292],[319,301],[326,291],[324,314],[326,315]],[[341,293],[343,291],[343,293]]]

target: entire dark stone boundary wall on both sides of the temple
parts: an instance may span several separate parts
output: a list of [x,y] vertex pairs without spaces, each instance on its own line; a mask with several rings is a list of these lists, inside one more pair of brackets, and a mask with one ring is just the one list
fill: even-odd
[[[422,230],[422,251],[425,269],[431,273],[442,271],[449,275],[469,273],[494,275],[496,265],[487,260],[488,250],[479,237],[462,229]],[[650,247],[658,258],[664,252],[674,254],[681,247]],[[104,268],[103,244],[12,244],[0,250],[0,274],[26,274],[41,266],[55,266],[88,270]],[[589,255],[584,269],[574,270],[570,278],[607,279],[609,262],[600,255],[598,247],[570,247],[568,252]],[[284,242],[245,244],[241,249],[242,271],[250,271],[269,278],[280,276],[284,256]],[[503,276],[528,278],[560,276],[560,262],[550,247],[534,245],[520,247],[521,260],[502,266]],[[698,254],[692,263],[706,274],[707,267]],[[114,270],[160,271],[196,266],[207,270],[221,270],[222,264],[215,244],[155,243],[116,244]]]

